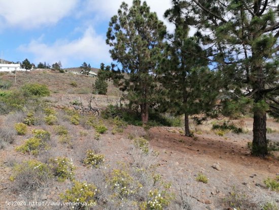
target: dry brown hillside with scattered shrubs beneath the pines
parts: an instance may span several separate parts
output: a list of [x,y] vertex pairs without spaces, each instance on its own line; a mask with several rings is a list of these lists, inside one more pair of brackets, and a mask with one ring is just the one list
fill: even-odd
[[[96,206],[88,209],[130,210],[144,206],[142,209],[260,210],[263,206],[279,204],[279,192],[264,183],[267,178],[279,175],[279,153],[273,151],[266,159],[251,156],[252,118],[234,120],[244,131],[239,134],[212,130],[215,120],[199,126],[191,121],[194,137],[190,138],[183,135],[183,127],[144,129],[125,125],[118,118],[96,116],[96,112],[82,115],[70,104],[78,101],[86,107],[92,98],[91,106],[98,110],[109,104],[119,105],[121,93],[111,83],[108,95],[99,96],[91,94],[95,78],[84,75],[50,70],[17,72],[16,84],[14,74],[4,74],[1,78],[13,83],[10,90],[20,89],[28,82],[46,84],[51,95],[30,99],[24,108],[0,115],[0,209],[30,209],[30,205],[7,206],[7,200],[52,203],[34,205],[32,209],[72,209],[62,201],[76,202],[86,197],[79,193],[78,187],[79,192],[72,192],[72,197],[62,196],[66,190],[73,189],[75,180],[86,182],[84,186],[96,186],[96,191],[93,190]],[[71,85],[73,81],[77,87]],[[34,117],[34,123],[17,135],[16,123],[26,122],[28,117],[30,121]],[[267,138],[279,142],[279,124],[268,118],[267,127]],[[42,140],[44,143],[38,151],[34,153],[31,147],[25,152],[18,149],[38,129],[50,134]],[[88,149],[94,151],[91,158],[104,155],[104,162],[88,166],[84,161]],[[66,158],[63,160],[67,164],[62,162],[64,171],[58,173],[59,157]],[[41,165],[35,164],[33,168],[24,163],[26,160],[40,161]],[[39,176],[36,167],[44,173],[41,171]],[[45,173],[47,170],[51,172]],[[59,174],[65,171],[68,173],[61,180]],[[168,183],[171,188],[167,187]],[[152,207],[151,202],[156,204],[156,201],[161,207],[159,204],[157,208]],[[59,206],[53,204],[58,202]]]

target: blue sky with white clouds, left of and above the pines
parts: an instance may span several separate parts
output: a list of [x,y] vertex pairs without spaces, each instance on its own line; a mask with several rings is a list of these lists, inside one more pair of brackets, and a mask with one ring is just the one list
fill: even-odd
[[[99,67],[112,62],[106,33],[123,0],[0,0],[0,53],[8,61],[27,58],[37,65],[61,61],[63,68],[83,62]],[[132,0],[126,0],[131,5]],[[147,0],[163,19],[170,0]],[[1,54],[0,54],[1,56]]]

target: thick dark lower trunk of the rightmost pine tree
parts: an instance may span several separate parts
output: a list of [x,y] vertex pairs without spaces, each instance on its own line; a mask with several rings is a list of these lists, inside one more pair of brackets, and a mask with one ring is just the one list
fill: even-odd
[[[257,94],[255,103],[261,100],[260,94]],[[268,155],[266,139],[266,112],[254,111],[253,122],[253,147],[252,154],[255,156],[265,157]]]

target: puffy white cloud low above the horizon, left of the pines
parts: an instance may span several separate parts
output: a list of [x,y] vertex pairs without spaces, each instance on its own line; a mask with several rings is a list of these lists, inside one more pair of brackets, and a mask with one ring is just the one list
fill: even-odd
[[91,64],[111,61],[106,41],[97,35],[91,26],[86,29],[81,38],[73,41],[57,40],[52,45],[47,45],[43,43],[41,37],[27,45],[21,45],[18,50],[34,54],[36,64],[39,62],[53,64],[61,61],[63,67],[69,67],[75,61],[80,64],[84,61]]

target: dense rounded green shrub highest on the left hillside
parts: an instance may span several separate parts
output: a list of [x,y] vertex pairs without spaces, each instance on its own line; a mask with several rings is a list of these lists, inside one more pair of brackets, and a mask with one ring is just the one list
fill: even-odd
[[22,86],[22,90],[27,96],[49,96],[50,90],[45,84],[28,83]]

